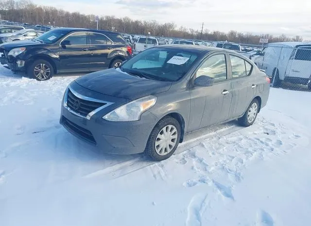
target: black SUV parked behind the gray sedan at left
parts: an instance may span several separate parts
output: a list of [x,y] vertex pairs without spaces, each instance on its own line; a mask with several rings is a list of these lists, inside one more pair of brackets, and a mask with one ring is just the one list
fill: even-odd
[[120,33],[77,28],[53,29],[35,39],[0,45],[0,62],[38,81],[64,72],[117,67],[132,57]]

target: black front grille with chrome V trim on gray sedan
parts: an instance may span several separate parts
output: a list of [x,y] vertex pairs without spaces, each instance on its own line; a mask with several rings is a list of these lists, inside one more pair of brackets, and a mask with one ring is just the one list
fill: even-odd
[[88,113],[93,112],[95,109],[104,106],[105,103],[89,101],[76,97],[70,89],[67,94],[67,106],[74,111],[83,116],[86,116]]

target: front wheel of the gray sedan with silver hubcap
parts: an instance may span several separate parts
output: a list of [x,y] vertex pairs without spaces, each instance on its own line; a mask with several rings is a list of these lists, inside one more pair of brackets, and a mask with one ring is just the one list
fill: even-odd
[[[164,130],[171,132],[170,140],[166,140],[164,137]],[[177,134],[176,134],[177,133]],[[162,161],[170,158],[176,150],[181,136],[181,128],[176,119],[171,116],[162,118],[151,131],[148,138],[148,142],[145,148],[145,153],[154,161]],[[161,142],[162,140],[162,142]],[[172,142],[171,145],[168,142]],[[155,142],[159,145],[155,145]],[[173,145],[174,143],[174,145]],[[161,145],[162,144],[162,145]]]

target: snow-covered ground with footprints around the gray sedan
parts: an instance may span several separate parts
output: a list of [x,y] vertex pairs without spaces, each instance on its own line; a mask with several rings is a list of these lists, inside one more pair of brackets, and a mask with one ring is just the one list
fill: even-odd
[[310,92],[271,89],[253,126],[192,133],[151,162],[101,154],[59,125],[75,78],[0,67],[0,226],[310,225]]

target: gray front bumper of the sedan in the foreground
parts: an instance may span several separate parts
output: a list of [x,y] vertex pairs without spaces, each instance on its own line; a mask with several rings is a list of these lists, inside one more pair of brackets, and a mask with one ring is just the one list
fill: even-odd
[[60,124],[74,136],[98,146],[104,153],[137,154],[143,152],[158,119],[149,111],[143,113],[139,121],[110,122],[102,119],[111,109],[113,107],[104,108],[87,119],[69,111],[64,106],[63,100]]

